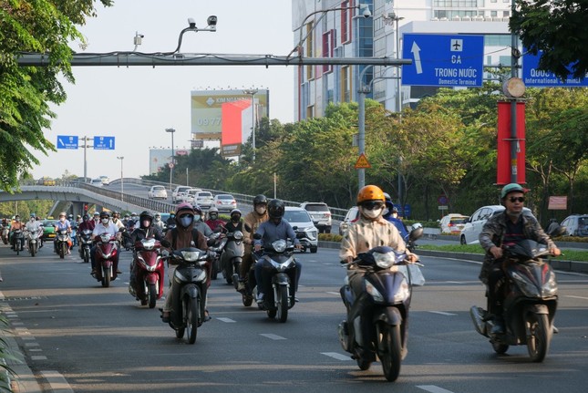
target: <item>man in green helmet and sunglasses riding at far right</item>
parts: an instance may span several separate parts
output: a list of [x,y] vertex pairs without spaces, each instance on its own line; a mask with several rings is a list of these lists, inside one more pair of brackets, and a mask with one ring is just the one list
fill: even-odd
[[487,285],[488,311],[492,315],[493,334],[504,332],[504,318],[502,317],[502,301],[504,291],[502,282],[503,252],[502,246],[518,243],[524,239],[531,239],[537,243],[547,245],[550,253],[557,256],[562,252],[552,242],[552,239],[542,230],[537,219],[532,214],[522,211],[526,190],[520,184],[510,183],[500,191],[500,200],[506,208],[504,212],[493,215],[482,227],[480,245],[486,250],[484,263],[480,271],[480,281]]

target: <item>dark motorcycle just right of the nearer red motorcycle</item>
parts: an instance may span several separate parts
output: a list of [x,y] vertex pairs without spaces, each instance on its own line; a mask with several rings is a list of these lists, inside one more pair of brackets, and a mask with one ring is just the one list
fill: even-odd
[[[189,247],[170,253],[170,260],[178,264],[173,275],[171,292],[173,304],[170,311],[170,327],[176,337],[184,333],[189,344],[196,342],[198,327],[206,320],[206,267],[211,253]],[[163,317],[163,309],[160,309]]]

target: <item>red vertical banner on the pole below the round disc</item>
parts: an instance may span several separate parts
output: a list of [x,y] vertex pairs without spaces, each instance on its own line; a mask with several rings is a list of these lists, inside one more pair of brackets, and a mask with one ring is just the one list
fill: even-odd
[[[516,144],[517,154],[511,160],[511,143]],[[515,165],[516,160],[516,165]],[[498,162],[497,184],[511,182],[511,171],[515,171],[519,184],[525,179],[525,103],[517,102],[517,137],[511,137],[511,102],[498,103]]]

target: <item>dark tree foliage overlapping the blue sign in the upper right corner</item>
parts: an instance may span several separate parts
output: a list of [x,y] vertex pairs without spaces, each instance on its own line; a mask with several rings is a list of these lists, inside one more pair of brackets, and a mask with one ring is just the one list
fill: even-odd
[[588,1],[516,0],[509,26],[533,55],[542,50],[539,67],[565,80],[588,73]]

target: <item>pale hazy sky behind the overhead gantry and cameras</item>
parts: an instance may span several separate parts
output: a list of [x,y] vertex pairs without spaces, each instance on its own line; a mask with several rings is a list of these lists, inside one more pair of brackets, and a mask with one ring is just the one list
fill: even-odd
[[[132,51],[136,33],[144,36],[139,52],[172,52],[189,17],[202,29],[211,15],[218,17],[217,31],[186,32],[181,52],[286,56],[294,47],[287,0],[115,0],[97,9],[98,17],[78,28],[88,47],[72,43],[77,53]],[[73,67],[73,73],[76,83],[62,81],[67,101],[52,107],[57,119],[45,135],[55,145],[58,135],[114,137],[115,150],[87,150],[90,178],[119,179],[121,162],[124,177],[149,174],[150,147],[171,146],[165,129],[176,129],[176,149],[189,147],[191,90],[269,88],[270,118],[294,120],[294,67]],[[48,156],[36,151],[36,157],[41,163],[32,170],[35,179],[60,178],[66,171],[84,175],[81,148]]]

